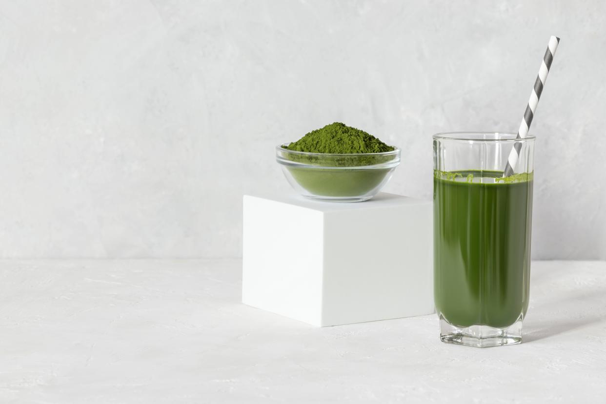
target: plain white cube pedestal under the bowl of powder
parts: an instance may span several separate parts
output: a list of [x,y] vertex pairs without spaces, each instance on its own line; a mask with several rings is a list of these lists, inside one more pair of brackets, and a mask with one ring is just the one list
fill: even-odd
[[242,302],[316,326],[433,313],[431,202],[244,196]]

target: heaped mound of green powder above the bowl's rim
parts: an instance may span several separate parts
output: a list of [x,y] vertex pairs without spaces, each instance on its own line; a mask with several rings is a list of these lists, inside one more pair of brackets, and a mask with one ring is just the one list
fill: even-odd
[[341,124],[341,122],[311,131],[285,148],[307,153],[339,154],[384,153],[394,150],[393,147],[384,144],[375,136]]

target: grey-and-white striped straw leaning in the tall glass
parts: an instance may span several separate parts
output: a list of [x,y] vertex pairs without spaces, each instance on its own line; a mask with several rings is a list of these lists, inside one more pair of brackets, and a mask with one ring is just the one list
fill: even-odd
[[[556,55],[556,49],[558,49],[559,42],[560,39],[557,36],[552,36],[549,39],[549,45],[547,45],[545,56],[543,56],[543,61],[541,62],[539,74],[538,76],[536,76],[536,81],[534,81],[534,88],[532,90],[532,93],[530,93],[530,99],[528,100],[528,105],[526,105],[526,111],[524,112],[524,117],[522,118],[522,123],[520,124],[520,128],[518,129],[518,136],[516,136],[516,139],[524,139],[524,137],[526,137],[526,135],[528,134],[528,129],[530,129],[530,124],[532,123],[532,119],[534,116],[534,111],[536,111],[536,105],[539,103],[539,98],[541,98],[543,86],[545,85],[545,81],[547,80],[547,73],[549,73],[549,68],[551,67],[553,56]],[[520,156],[521,148],[521,143],[516,142],[513,144],[513,149],[511,149],[511,153],[509,153],[507,165],[505,165],[505,171],[503,172],[504,177],[513,175],[514,168],[518,163],[518,157]]]

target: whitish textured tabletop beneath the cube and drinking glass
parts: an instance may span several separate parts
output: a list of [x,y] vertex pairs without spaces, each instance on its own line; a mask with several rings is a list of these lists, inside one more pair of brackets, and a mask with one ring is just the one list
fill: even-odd
[[525,343],[435,315],[315,328],[238,302],[239,260],[0,262],[0,401],[598,403],[606,263],[534,262]]

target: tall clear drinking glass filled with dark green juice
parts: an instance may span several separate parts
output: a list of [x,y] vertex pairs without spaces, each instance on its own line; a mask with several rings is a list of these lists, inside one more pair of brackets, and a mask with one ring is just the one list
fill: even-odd
[[[502,177],[511,149],[515,173]],[[534,136],[433,136],[434,294],[444,342],[522,342],[528,309]]]

